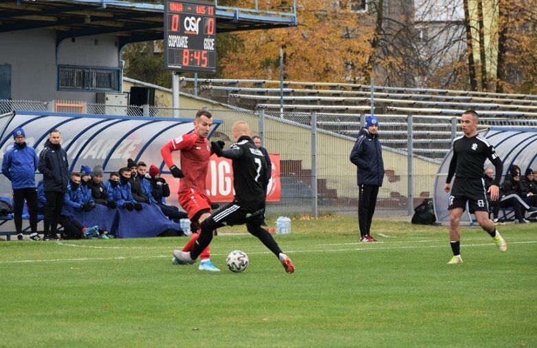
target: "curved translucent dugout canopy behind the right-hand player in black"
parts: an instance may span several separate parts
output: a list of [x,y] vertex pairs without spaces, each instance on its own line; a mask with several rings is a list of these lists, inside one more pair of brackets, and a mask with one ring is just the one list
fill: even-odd
[[[503,161],[503,177],[507,173],[509,166],[516,164],[522,172],[526,168],[536,169],[537,167],[537,122],[533,122],[536,127],[490,127],[483,132],[480,132],[488,142],[490,142],[496,153]],[[435,215],[439,223],[449,221],[448,202],[450,194],[443,191],[448,176],[448,168],[450,165],[453,152],[450,151],[443,158],[439,166],[436,182],[435,182]],[[489,160],[485,161],[485,168],[493,167]],[[503,182],[503,179],[501,180]],[[472,217],[465,212],[461,221],[471,222]]]

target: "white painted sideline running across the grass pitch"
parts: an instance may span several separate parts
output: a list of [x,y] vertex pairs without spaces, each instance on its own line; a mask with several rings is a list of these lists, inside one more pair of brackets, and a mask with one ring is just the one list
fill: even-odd
[[[468,240],[468,239],[467,239]],[[512,241],[509,242],[509,245],[512,244],[533,244],[537,243],[537,241]],[[350,243],[353,244],[362,244],[362,243]],[[381,243],[364,243],[364,244],[375,244],[379,245]],[[328,246],[327,244],[326,246]],[[336,245],[342,245],[342,244],[333,244],[333,246]],[[301,253],[307,253],[307,252],[352,252],[352,251],[375,251],[375,250],[393,250],[393,249],[418,249],[418,248],[449,248],[449,246],[446,247],[446,243],[444,243],[441,246],[392,246],[392,247],[376,247],[376,248],[368,248],[368,247],[362,247],[362,248],[348,248],[348,249],[331,249],[331,250],[286,250],[286,253],[289,254],[301,254]],[[476,246],[495,246],[494,243],[481,243],[481,244],[465,244],[461,246],[462,248],[470,248],[470,247],[476,247]],[[248,254],[271,254],[270,251],[263,251],[263,252],[248,252]],[[213,253],[212,255],[226,255],[225,253]],[[80,257],[76,259],[36,259],[36,260],[6,260],[6,261],[0,261],[0,264],[2,263],[40,263],[40,262],[72,262],[72,261],[105,261],[105,260],[126,260],[126,259],[160,259],[163,257],[169,257],[171,258],[171,254],[166,255],[143,255],[143,256],[119,256],[119,257]]]

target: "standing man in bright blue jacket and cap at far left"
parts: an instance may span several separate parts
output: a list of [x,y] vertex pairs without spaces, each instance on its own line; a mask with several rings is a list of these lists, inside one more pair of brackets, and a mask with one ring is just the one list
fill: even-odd
[[30,213],[30,239],[39,241],[37,234],[37,191],[35,171],[37,169],[37,154],[32,146],[26,144],[24,129],[16,128],[13,131],[15,140],[13,147],[3,155],[2,173],[11,182],[13,191],[13,220],[17,239],[23,240],[23,207],[24,200],[28,204]]

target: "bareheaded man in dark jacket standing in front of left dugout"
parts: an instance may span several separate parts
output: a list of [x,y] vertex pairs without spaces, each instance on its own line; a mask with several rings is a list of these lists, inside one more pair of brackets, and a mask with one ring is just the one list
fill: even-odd
[[[61,133],[58,129],[50,132],[45,148],[39,154],[37,168],[43,174],[43,191],[47,199],[43,219],[43,240],[57,241],[56,228],[63,208],[63,195],[69,182],[69,162],[67,152],[61,147]],[[52,233],[51,233],[52,232]]]

